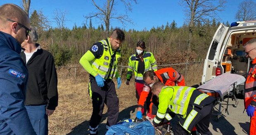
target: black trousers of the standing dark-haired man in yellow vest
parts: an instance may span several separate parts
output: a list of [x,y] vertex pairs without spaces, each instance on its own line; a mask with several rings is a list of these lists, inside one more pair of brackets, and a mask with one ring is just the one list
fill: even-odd
[[90,134],[97,134],[97,128],[102,119],[104,104],[107,105],[107,127],[116,124],[119,114],[119,98],[116,94],[115,84],[107,79],[104,87],[99,87],[94,78],[90,78],[88,93],[92,98],[92,116],[90,119]]

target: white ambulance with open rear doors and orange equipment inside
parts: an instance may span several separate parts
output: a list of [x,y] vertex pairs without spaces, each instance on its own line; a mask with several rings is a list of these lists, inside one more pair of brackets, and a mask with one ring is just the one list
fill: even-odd
[[[222,23],[213,36],[204,61],[201,84],[224,74],[239,74],[246,77],[250,60],[244,52],[244,44],[256,38],[256,20],[237,21],[230,27]],[[244,91],[244,84],[237,86],[237,94]]]

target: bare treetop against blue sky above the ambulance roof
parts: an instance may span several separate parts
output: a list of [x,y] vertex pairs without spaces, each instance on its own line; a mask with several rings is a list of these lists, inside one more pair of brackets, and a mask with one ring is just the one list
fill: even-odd
[[252,0],[244,0],[239,4],[237,14],[235,15],[237,21],[249,21],[256,19],[256,2]]

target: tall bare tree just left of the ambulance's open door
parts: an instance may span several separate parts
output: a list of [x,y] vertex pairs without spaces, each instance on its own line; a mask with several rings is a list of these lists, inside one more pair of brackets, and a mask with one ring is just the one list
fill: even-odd
[[216,0],[181,0],[181,5],[185,7],[185,16],[189,26],[189,37],[187,49],[191,50],[191,39],[193,29],[196,23],[205,23],[208,18],[216,18],[217,11],[223,11],[225,0],[219,0],[217,5],[213,2]]

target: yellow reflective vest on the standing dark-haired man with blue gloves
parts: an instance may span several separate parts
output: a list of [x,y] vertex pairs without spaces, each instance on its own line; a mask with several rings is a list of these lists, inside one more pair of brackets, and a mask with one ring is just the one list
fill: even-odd
[[[98,74],[104,79],[113,79],[117,71],[117,63],[120,61],[120,50],[113,51],[109,44],[109,38],[107,40],[100,41],[104,47],[103,54],[100,58],[95,58],[90,61],[92,68],[98,72]],[[111,61],[113,61],[111,64]]]

